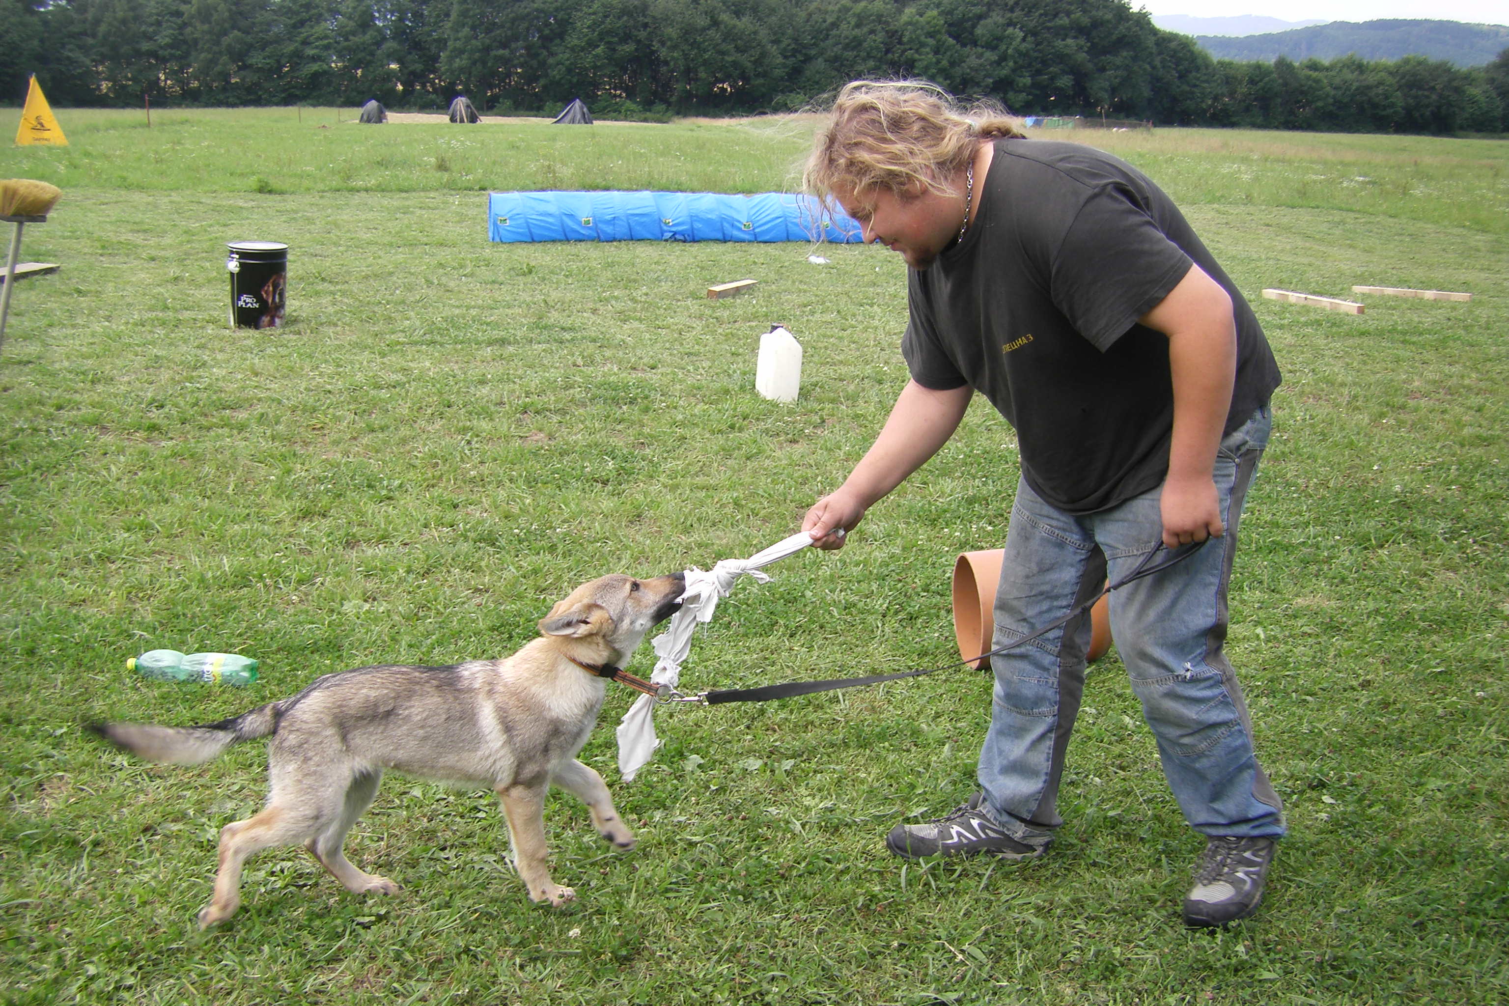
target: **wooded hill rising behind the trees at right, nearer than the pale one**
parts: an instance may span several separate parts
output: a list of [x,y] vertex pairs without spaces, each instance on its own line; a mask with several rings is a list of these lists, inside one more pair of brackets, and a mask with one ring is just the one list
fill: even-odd
[[1456,66],[1482,66],[1509,48],[1509,27],[1461,21],[1331,21],[1274,35],[1201,35],[1195,41],[1216,59],[1272,62],[1287,56],[1298,62],[1357,53],[1363,59],[1428,56]]

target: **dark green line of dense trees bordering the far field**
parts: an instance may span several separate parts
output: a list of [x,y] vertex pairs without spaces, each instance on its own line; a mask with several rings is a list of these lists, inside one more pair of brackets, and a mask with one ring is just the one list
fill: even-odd
[[0,98],[30,72],[62,106],[742,115],[904,75],[1020,115],[1509,131],[1509,50],[1215,60],[1126,0],[0,0]]

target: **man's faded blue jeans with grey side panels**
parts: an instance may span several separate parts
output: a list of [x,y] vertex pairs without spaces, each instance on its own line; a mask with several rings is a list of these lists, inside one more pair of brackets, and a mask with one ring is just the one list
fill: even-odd
[[[1227,582],[1246,487],[1268,445],[1265,406],[1222,439],[1215,483],[1225,535],[1180,564],[1111,594],[1111,635],[1157,738],[1185,820],[1207,836],[1284,834],[1283,805],[1252,751],[1252,725],[1225,659]],[[1022,481],[996,591],[993,647],[1062,618],[1127,576],[1162,540],[1162,487],[1111,510],[1073,516]],[[1163,561],[1166,552],[1154,557]],[[979,784],[996,822],[1047,845],[1062,819],[1058,784],[1085,688],[1089,614],[991,658],[996,673]]]

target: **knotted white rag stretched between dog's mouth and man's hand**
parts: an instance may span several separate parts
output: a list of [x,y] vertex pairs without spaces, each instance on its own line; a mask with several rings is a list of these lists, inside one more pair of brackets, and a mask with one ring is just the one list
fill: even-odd
[[[770,576],[761,573],[761,567],[770,566],[776,560],[783,560],[792,552],[812,544],[812,535],[798,531],[783,541],[777,541],[764,552],[756,552],[747,560],[723,560],[709,572],[702,572],[696,566],[687,570],[687,590],[681,596],[681,611],[670,617],[670,627],[650,639],[659,659],[650,673],[650,680],[656,685],[676,688],[681,682],[681,662],[691,650],[691,633],[705,621],[712,621],[712,612],[718,600],[729,596],[733,581],[739,576],[753,576],[759,582],[768,582]],[[619,722],[619,772],[625,780],[644,768],[659,747],[655,736],[655,700],[649,695],[629,706]]]

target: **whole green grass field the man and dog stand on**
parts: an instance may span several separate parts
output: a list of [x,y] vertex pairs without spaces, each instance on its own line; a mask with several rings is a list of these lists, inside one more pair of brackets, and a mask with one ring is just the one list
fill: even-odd
[[[525,899],[489,793],[389,777],[350,852],[401,894],[267,852],[241,914],[196,932],[261,745],[146,766],[80,721],[205,722],[346,667],[501,655],[582,579],[750,555],[842,480],[905,380],[883,250],[486,240],[487,189],[789,186],[800,122],[343,115],[59,110],[72,146],[0,149],[0,176],[65,189],[23,249],[62,270],[18,285],[0,348],[3,1001],[1509,1001],[1509,145],[1420,137],[1089,136],[1186,207],[1284,368],[1231,599],[1292,827],[1254,920],[1179,923],[1200,843],[1112,655],[1068,824],[1031,864],[881,846],[970,792],[982,674],[665,710],[634,783],[614,691],[584,759],[640,848],[608,854],[552,796],[573,908]],[[291,246],[284,329],[226,327],[225,243],[246,238]],[[758,293],[705,299],[742,278]],[[1474,299],[1259,299],[1352,284]],[[794,406],[753,392],[776,321],[806,347]],[[999,546],[1016,477],[976,403],[848,549],[739,584],[684,682],[945,662],[954,558]],[[263,680],[127,674],[152,647],[243,652]]]

